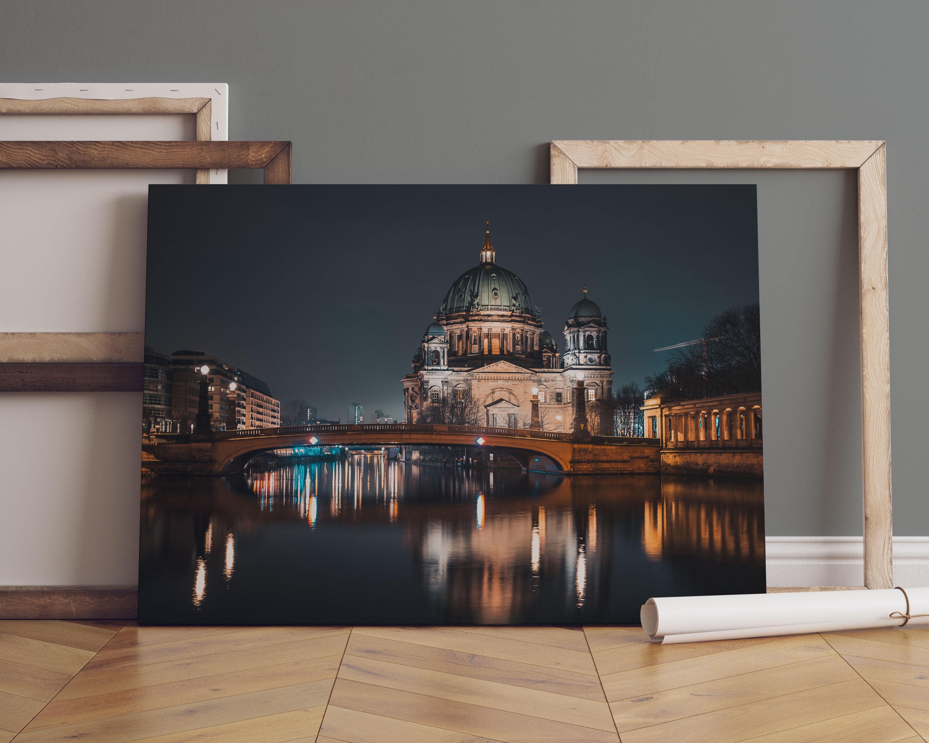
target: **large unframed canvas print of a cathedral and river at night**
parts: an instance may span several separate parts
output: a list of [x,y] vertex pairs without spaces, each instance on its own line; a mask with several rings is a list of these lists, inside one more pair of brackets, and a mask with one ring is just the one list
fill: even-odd
[[752,185],[152,186],[139,621],[763,593]]

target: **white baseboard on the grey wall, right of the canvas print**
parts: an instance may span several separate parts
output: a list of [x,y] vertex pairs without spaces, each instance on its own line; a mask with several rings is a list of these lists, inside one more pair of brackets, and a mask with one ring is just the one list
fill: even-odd
[[[769,586],[864,585],[861,537],[767,537]],[[929,586],[929,537],[894,537],[894,585]]]

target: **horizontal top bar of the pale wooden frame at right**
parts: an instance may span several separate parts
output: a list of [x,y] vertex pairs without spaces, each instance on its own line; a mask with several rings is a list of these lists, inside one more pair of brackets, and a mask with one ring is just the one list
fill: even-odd
[[[883,142],[598,139],[552,144],[576,168],[858,168]],[[559,163],[559,173],[565,168]]]

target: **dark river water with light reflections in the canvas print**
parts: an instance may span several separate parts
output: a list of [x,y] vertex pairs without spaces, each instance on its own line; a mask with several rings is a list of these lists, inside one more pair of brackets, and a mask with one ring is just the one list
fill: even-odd
[[765,591],[761,480],[567,477],[378,455],[142,485],[139,621],[637,624]]

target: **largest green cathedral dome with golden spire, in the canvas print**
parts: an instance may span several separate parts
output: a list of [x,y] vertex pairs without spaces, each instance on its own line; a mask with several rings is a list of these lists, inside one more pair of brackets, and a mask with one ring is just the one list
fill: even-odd
[[490,231],[480,256],[479,266],[465,271],[451,284],[439,312],[442,315],[459,312],[517,312],[535,316],[536,309],[526,284],[512,271],[497,265]]

